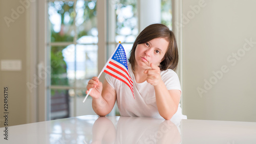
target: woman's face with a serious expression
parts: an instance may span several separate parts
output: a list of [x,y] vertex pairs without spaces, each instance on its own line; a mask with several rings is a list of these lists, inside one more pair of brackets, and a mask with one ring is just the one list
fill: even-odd
[[169,42],[164,38],[155,38],[146,43],[138,44],[135,49],[135,68],[148,69],[151,63],[159,66],[163,61],[168,44]]

